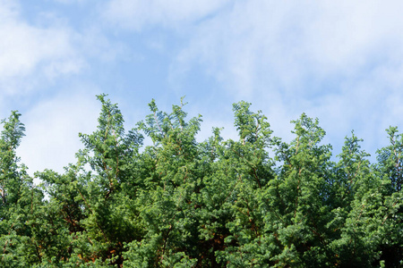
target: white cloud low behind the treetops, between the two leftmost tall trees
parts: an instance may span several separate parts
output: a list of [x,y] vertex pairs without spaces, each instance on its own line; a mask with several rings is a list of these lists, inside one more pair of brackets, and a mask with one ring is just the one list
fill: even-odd
[[44,169],[63,172],[64,166],[76,162],[74,155],[83,147],[78,133],[94,131],[100,111],[93,90],[88,93],[88,88],[87,93],[59,94],[22,114],[26,136],[17,154],[30,174]]

